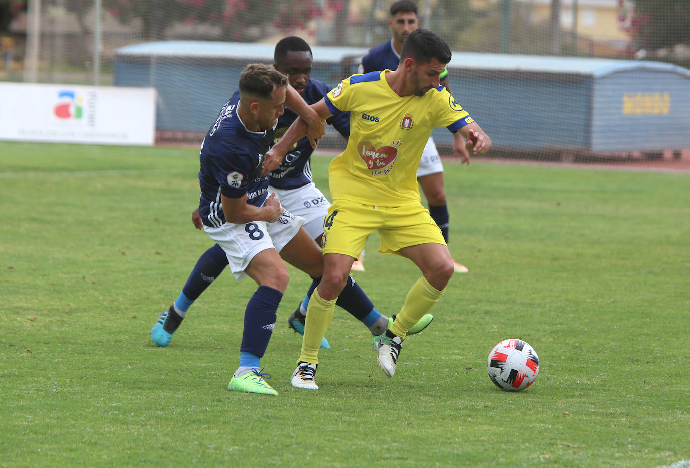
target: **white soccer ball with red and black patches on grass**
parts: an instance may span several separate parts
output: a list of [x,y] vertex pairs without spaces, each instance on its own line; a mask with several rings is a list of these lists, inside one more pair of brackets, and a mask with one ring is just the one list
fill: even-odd
[[539,358],[526,342],[504,340],[489,353],[486,369],[496,387],[507,391],[520,391],[536,380],[539,373]]

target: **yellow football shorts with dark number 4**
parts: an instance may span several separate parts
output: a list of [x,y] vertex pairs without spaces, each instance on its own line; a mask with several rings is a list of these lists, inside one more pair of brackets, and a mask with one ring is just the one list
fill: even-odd
[[378,231],[380,253],[400,255],[400,249],[420,244],[443,244],[441,229],[422,204],[373,206],[335,200],[324,218],[324,253],[359,257],[366,237]]

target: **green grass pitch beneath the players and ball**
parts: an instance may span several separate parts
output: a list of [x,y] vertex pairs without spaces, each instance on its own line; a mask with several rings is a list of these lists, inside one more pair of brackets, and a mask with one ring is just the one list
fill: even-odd
[[[313,162],[325,189],[328,158]],[[225,273],[166,349],[148,331],[211,244],[194,148],[0,143],[1,466],[659,467],[690,459],[687,174],[446,164],[456,275],[394,378],[338,310],[319,391],[226,391],[255,289]],[[326,191],[326,190],[324,190]],[[326,191],[327,192],[327,191]],[[358,282],[383,313],[419,277],[370,237]],[[486,355],[522,338],[540,376],[504,393]]]

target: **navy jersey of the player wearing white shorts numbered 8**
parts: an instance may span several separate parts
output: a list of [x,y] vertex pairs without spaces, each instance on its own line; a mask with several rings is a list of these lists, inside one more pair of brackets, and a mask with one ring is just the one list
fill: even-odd
[[247,195],[247,204],[262,206],[268,177],[260,177],[264,154],[273,144],[274,129],[251,132],[237,115],[239,91],[221,108],[199,152],[199,215],[210,227],[226,220],[221,194],[228,198]]

